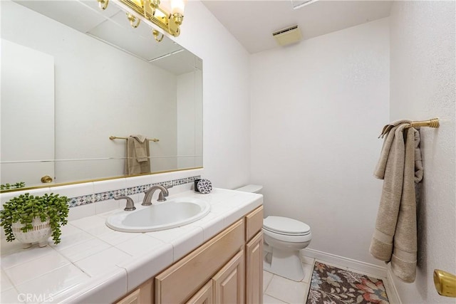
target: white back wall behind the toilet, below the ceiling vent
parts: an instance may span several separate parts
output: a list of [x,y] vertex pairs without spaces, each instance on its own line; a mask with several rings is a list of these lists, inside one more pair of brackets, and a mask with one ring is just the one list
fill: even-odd
[[252,182],[309,248],[368,263],[388,122],[388,19],[252,55]]

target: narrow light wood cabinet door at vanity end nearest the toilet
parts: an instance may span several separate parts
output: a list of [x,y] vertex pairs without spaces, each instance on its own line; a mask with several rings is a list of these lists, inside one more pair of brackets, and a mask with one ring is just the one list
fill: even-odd
[[263,303],[263,231],[246,245],[246,303]]

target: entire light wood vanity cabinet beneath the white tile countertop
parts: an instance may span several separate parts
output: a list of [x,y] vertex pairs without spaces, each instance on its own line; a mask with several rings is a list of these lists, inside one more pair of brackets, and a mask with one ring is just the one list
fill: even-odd
[[116,304],[262,303],[262,226],[259,206]]

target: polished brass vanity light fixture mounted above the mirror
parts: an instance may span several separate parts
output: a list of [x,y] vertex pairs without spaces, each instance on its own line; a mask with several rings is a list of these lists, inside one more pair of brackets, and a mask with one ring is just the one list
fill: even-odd
[[[108,7],[109,0],[97,0],[100,9]],[[180,25],[184,19],[184,6],[185,0],[171,0],[171,13],[168,13],[160,6],[160,0],[118,0],[123,4],[135,11],[136,13],[144,16],[145,19],[151,21],[155,26],[162,28],[162,30],[170,33],[172,36],[179,36]],[[134,28],[138,27],[140,19],[133,14],[127,14],[130,25]],[[156,41],[162,41],[163,34],[157,30],[153,30],[152,34]]]

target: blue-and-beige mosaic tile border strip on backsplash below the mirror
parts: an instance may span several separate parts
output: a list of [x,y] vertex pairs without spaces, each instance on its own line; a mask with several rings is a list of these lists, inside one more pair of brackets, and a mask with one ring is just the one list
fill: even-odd
[[195,182],[195,179],[200,179],[201,177],[199,175],[195,177],[185,177],[183,179],[172,179],[170,181],[166,182],[157,182],[154,184],[143,184],[140,186],[135,186],[135,187],[130,187],[130,188],[124,188],[124,189],[116,189],[108,192],[100,192],[100,193],[95,193],[95,194],[88,194],[88,195],[82,195],[82,196],[76,196],[76,197],[71,197],[70,201],[68,201],[68,204],[70,208],[77,207],[77,206],[83,206],[86,204],[92,204],[97,201],[107,201],[108,199],[114,199],[117,196],[123,196],[123,195],[132,195],[132,194],[137,194],[141,192],[145,192],[150,187],[156,186],[156,185],[161,185],[163,187],[170,187],[170,186],[179,186],[182,184],[189,184],[192,182]]

